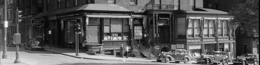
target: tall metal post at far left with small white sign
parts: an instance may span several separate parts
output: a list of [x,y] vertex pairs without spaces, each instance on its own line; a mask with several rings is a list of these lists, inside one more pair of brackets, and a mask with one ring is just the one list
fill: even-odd
[[[4,19],[5,19],[5,21],[7,21],[6,0],[4,1],[4,4],[5,4],[4,5]],[[7,35],[7,28],[4,27],[4,43],[3,43],[4,44],[4,48],[3,48],[2,59],[7,59],[8,58],[8,56],[6,54],[7,53],[7,48],[6,48],[6,40],[7,40],[7,38],[6,38],[6,35]]]

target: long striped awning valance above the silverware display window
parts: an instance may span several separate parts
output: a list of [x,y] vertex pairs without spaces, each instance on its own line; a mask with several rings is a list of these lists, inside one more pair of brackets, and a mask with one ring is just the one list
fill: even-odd
[[98,17],[98,18],[131,18],[131,16],[123,15],[86,15],[87,17]]

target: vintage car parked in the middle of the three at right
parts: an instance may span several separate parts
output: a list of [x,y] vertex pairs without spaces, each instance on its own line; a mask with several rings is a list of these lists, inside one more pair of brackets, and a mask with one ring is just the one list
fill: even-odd
[[197,63],[213,63],[213,64],[220,64],[226,65],[227,62],[227,56],[226,52],[222,51],[211,51],[207,52],[205,55],[201,54],[197,59]]

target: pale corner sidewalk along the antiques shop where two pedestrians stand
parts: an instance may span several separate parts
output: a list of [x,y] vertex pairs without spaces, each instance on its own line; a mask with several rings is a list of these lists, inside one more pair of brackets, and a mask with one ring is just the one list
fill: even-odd
[[88,54],[85,54],[82,51],[79,51],[79,56],[76,56],[76,50],[75,49],[51,47],[51,50],[50,50],[50,46],[46,46],[46,48],[44,50],[46,50],[48,52],[56,53],[56,54],[62,54],[62,55],[71,56],[71,57],[75,57],[75,58],[81,58],[81,59],[142,61],[142,62],[156,61],[156,60],[135,59],[135,58],[131,58],[131,57],[120,58],[120,57],[115,57],[115,56],[111,56],[111,55],[104,55],[104,54],[88,55]]

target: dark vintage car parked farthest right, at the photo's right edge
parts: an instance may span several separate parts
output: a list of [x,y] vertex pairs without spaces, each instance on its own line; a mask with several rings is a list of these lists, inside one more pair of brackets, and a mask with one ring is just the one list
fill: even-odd
[[236,59],[233,59],[232,63],[242,64],[242,65],[248,65],[248,64],[257,65],[259,63],[259,60],[257,59],[257,56],[255,54],[241,54]]

